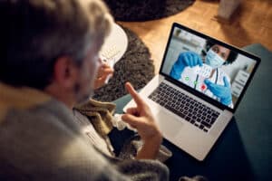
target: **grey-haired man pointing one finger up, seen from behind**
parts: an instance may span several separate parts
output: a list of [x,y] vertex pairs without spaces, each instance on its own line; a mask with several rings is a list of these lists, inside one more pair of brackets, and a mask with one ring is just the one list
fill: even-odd
[[143,140],[136,159],[103,154],[73,120],[112,24],[100,0],[1,0],[0,20],[0,180],[168,180],[152,160],[160,130],[130,83],[137,108],[122,119]]

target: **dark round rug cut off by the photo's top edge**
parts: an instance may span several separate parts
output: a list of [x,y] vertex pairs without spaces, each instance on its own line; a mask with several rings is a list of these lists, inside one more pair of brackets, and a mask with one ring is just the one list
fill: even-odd
[[104,0],[117,21],[140,22],[160,19],[186,9],[195,0]]

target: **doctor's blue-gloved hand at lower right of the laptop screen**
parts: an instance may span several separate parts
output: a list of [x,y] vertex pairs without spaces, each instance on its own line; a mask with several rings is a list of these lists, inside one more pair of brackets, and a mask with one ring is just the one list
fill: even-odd
[[218,85],[209,80],[205,80],[204,82],[207,85],[207,88],[220,99],[221,103],[228,106],[232,101],[231,89],[227,77],[224,77],[223,81],[224,85]]

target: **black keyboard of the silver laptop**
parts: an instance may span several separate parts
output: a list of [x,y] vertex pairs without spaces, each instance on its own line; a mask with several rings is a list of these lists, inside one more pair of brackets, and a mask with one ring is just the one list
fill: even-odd
[[198,100],[190,98],[180,90],[176,90],[163,82],[151,93],[149,99],[159,103],[160,106],[179,115],[204,132],[208,132],[219,117],[218,111],[210,109]]

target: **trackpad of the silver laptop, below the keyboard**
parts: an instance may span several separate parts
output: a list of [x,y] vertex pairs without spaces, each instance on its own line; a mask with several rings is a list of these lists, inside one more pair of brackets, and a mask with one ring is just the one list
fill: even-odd
[[175,119],[175,117],[166,111],[158,112],[156,119],[164,138],[176,138],[183,126],[180,120]]

